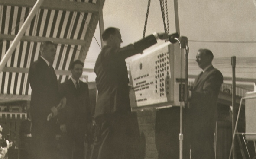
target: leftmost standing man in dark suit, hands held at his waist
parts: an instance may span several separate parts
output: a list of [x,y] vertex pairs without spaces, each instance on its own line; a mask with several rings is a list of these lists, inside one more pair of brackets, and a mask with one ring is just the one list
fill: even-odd
[[57,115],[57,105],[65,106],[65,99],[60,101],[58,80],[52,67],[56,54],[52,41],[43,41],[40,56],[29,68],[31,93],[32,148],[35,159],[56,159],[58,156],[55,140],[56,118],[47,120],[49,114]]

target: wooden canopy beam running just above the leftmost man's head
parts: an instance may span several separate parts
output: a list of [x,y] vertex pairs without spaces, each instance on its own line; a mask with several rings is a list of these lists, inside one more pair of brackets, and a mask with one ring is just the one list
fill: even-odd
[[[0,40],[14,40],[16,35],[6,35],[0,34]],[[20,41],[32,41],[32,42],[41,42],[41,41],[53,41],[56,44],[67,44],[67,45],[84,45],[84,40],[75,40],[75,39],[63,39],[63,38],[46,38],[39,36],[23,36]]]

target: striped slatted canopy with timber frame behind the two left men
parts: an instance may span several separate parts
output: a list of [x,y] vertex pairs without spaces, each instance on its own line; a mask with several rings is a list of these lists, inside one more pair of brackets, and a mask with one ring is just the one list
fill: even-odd
[[[0,0],[0,59],[10,47],[37,0]],[[30,100],[28,70],[39,57],[41,41],[56,44],[53,63],[58,82],[71,75],[69,64],[85,61],[99,22],[104,31],[105,0],[44,0],[3,70],[0,70],[0,103]],[[101,38],[101,46],[103,44]],[[93,72],[93,69],[84,69]]]

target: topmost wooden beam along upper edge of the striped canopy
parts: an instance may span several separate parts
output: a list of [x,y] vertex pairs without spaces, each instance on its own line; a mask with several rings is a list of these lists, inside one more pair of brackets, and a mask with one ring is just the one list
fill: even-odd
[[[0,5],[33,7],[36,0],[0,0]],[[98,6],[93,3],[73,2],[67,0],[45,0],[41,9],[67,10],[75,12],[97,13]]]

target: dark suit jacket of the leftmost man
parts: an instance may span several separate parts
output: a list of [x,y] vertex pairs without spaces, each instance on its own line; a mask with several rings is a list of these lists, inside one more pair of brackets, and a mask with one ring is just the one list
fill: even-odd
[[32,89],[32,123],[47,122],[51,108],[59,102],[58,80],[53,68],[50,68],[41,57],[29,68],[29,83]]

